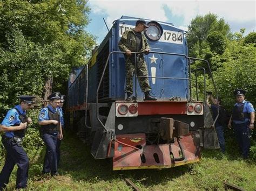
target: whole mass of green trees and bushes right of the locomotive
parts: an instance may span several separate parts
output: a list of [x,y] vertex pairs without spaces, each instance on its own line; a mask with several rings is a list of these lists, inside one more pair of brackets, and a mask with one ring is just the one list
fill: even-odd
[[[233,90],[237,88],[247,90],[246,99],[255,107],[256,33],[251,32],[244,37],[245,29],[241,29],[240,32],[232,34],[224,19],[217,18],[217,15],[208,13],[192,19],[187,32],[189,55],[205,59],[210,63],[218,95],[222,98],[222,105],[226,109],[231,111],[233,108],[235,103]],[[211,74],[206,63],[196,61],[191,68],[199,67],[206,68],[207,90],[214,92]],[[198,72],[197,83],[198,97],[203,101],[204,76],[200,72]],[[195,76],[192,75],[192,98],[196,98],[195,87]],[[253,158],[256,155],[255,147],[255,141],[252,141]]]

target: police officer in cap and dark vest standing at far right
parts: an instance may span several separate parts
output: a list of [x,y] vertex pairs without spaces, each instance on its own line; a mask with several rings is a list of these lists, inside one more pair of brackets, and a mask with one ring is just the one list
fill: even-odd
[[244,159],[248,158],[250,151],[250,129],[254,128],[255,110],[253,105],[245,101],[245,90],[237,89],[234,91],[234,95],[237,98],[237,103],[234,104],[232,116],[228,122],[228,128],[233,128],[235,137],[239,144],[240,152]]

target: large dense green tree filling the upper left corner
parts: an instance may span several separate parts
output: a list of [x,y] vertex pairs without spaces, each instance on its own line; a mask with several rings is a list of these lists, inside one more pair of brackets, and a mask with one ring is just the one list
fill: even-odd
[[[0,1],[0,108],[17,95],[42,95],[45,82],[66,83],[72,67],[86,63],[95,38],[86,0]],[[1,112],[1,113],[2,113]]]

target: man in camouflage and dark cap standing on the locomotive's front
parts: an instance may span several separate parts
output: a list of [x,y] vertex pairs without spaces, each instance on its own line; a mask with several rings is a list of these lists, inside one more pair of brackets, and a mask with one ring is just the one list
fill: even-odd
[[[126,69],[126,101],[132,101],[133,94],[133,81],[132,76],[135,70],[135,56],[131,52],[150,52],[149,44],[147,43],[145,34],[143,31],[149,26],[146,25],[145,20],[139,19],[136,22],[134,29],[126,30],[123,33],[122,38],[119,41],[119,49],[125,52],[125,69]],[[148,76],[147,66],[143,54],[137,54],[137,76]],[[140,88],[145,94],[144,100],[157,100],[156,97],[150,95],[151,87],[149,85],[149,79],[147,77],[139,77]]]

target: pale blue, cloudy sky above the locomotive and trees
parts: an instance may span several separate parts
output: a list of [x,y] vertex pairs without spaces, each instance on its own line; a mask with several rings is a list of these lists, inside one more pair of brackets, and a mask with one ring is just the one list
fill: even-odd
[[224,18],[232,32],[241,28],[246,34],[256,31],[255,1],[89,0],[88,4],[91,23],[86,30],[98,37],[98,44],[107,33],[103,17],[110,29],[122,15],[169,22],[187,30],[191,19],[211,12]]

